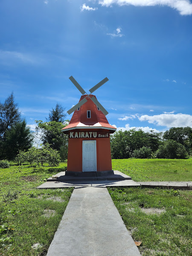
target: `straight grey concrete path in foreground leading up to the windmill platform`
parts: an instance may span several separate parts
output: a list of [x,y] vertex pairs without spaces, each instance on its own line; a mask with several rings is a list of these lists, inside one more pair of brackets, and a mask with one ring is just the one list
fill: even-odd
[[108,190],[73,190],[47,256],[140,256]]

